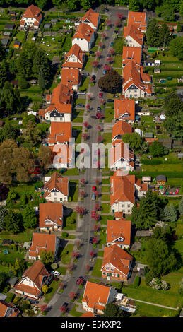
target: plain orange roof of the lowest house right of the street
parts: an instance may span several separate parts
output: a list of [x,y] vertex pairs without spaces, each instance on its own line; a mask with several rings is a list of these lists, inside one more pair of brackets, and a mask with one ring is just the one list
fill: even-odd
[[95,305],[98,303],[104,304],[102,306],[102,309],[104,309],[110,295],[110,290],[111,287],[109,286],[87,281],[82,302],[86,302],[88,307],[93,309],[95,309]]

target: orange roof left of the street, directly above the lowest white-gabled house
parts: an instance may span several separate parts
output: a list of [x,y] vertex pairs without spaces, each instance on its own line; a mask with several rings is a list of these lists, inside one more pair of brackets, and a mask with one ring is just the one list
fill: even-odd
[[32,244],[29,248],[29,256],[40,256],[41,251],[55,252],[56,235],[33,233]]

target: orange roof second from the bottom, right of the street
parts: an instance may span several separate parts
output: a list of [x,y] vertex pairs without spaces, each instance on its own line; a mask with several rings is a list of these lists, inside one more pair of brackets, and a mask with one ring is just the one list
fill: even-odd
[[119,248],[117,244],[110,248],[105,247],[101,271],[105,265],[110,263],[114,268],[117,268],[118,271],[127,276],[129,274],[129,263],[132,259],[133,257],[124,249]]

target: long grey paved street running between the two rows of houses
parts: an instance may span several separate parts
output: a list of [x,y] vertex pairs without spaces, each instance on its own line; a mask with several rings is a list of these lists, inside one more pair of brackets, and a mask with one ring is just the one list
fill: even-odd
[[[102,58],[100,59],[100,66],[98,68],[98,71],[93,71],[95,73],[97,80],[102,76],[102,71],[103,71],[103,66],[106,62],[106,57],[107,54],[109,53],[110,49],[110,42],[113,40],[113,35],[114,35],[114,22],[117,19],[116,18],[116,13],[117,11],[120,11],[119,8],[111,8],[110,10],[110,19],[112,20],[112,28],[109,30],[105,30],[107,34],[107,40],[105,40],[105,48],[102,51]],[[122,11],[122,10],[121,10]],[[123,11],[124,16],[127,15],[127,11]],[[93,74],[92,73],[92,74]],[[84,117],[83,117],[83,122],[88,121],[90,124],[90,129],[89,129],[89,139],[88,139],[88,145],[90,146],[90,151],[91,151],[91,146],[92,143],[98,143],[98,125],[103,129],[103,124],[99,122],[99,120],[95,119],[95,114],[96,114],[96,109],[98,106],[100,106],[99,102],[99,88],[98,84],[95,83],[94,86],[90,86],[88,89],[88,92],[93,93],[93,100],[90,103],[90,107],[92,110],[90,113],[85,111]],[[103,99],[107,99],[107,93],[103,93]],[[90,153],[90,165],[91,165],[91,153]],[[81,249],[80,249],[80,254],[81,257],[78,259],[78,262],[76,264],[76,268],[73,270],[73,273],[71,274],[66,274],[63,278],[63,281],[66,285],[66,288],[63,293],[59,294],[56,293],[53,297],[52,300],[49,302],[48,306],[52,307],[49,312],[47,313],[47,317],[59,317],[61,316],[61,312],[59,310],[59,307],[64,302],[69,303],[69,309],[68,312],[71,310],[71,308],[74,306],[74,304],[71,302],[71,299],[69,298],[69,292],[76,292],[77,294],[82,294],[83,289],[79,289],[78,285],[76,285],[76,280],[78,276],[83,275],[86,279],[88,278],[88,275],[86,275],[85,271],[85,265],[89,264],[92,266],[94,263],[90,262],[90,251],[93,250],[92,244],[89,244],[89,239],[91,236],[94,235],[93,227],[95,225],[95,221],[90,218],[91,216],[91,211],[94,209],[95,206],[95,201],[91,200],[91,190],[92,186],[95,185],[95,180],[96,179],[101,179],[102,178],[102,172],[98,171],[96,168],[88,168],[85,170],[85,173],[81,173],[78,179],[81,179],[82,177],[85,177],[85,198],[84,201],[79,201],[78,203],[86,208],[88,211],[87,214],[83,216],[83,219],[78,220],[77,223],[77,229],[76,229],[76,239],[80,239],[82,242]],[[99,191],[101,188],[99,189]],[[94,250],[95,251],[95,250]],[[41,316],[41,315],[40,315]]]

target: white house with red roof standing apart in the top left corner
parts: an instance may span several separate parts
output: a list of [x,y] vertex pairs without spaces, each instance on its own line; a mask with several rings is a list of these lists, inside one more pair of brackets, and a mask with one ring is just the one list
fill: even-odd
[[30,5],[22,18],[20,19],[21,28],[40,28],[40,23],[42,22],[42,13],[40,8],[35,5]]

